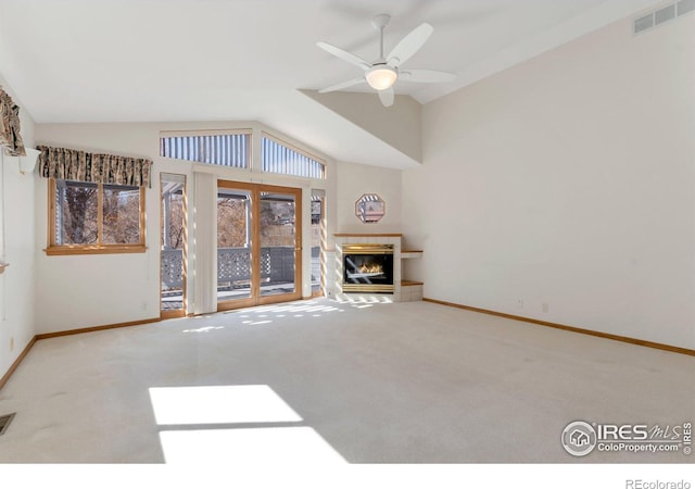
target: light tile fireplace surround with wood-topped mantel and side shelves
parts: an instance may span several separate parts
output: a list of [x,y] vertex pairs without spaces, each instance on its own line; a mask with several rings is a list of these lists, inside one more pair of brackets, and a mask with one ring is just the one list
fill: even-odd
[[[403,278],[402,261],[422,255],[421,250],[403,250],[401,234],[348,234],[337,233],[334,256],[327,256],[328,266],[334,274],[329,280],[328,294],[344,300],[367,299],[376,301],[409,302],[422,300],[422,283]],[[391,244],[393,246],[393,292],[343,292],[343,246],[344,244]]]

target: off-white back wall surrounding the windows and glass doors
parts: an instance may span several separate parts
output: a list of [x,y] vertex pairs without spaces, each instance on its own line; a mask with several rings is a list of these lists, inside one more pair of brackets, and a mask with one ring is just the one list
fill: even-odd
[[[161,130],[194,130],[245,127],[255,131],[267,130],[256,123],[114,123],[114,124],[39,124],[36,127],[38,143],[100,151],[124,155],[144,156],[154,161],[152,188],[146,191],[147,244],[146,253],[47,256],[37,258],[37,297],[41,304],[36,311],[37,333],[52,333],[84,327],[136,322],[160,316],[160,173],[187,176],[188,190],[193,190],[193,170],[201,165],[159,156]],[[281,136],[281,135],[279,135]],[[298,141],[288,140],[298,147]],[[308,148],[305,148],[309,150]],[[319,154],[320,156],[320,154]],[[207,166],[207,165],[203,165]],[[334,174],[328,162],[329,175]],[[305,204],[304,222],[309,222],[308,180],[251,173],[247,171],[207,167],[216,177],[302,187]],[[36,177],[36,233],[37,247],[47,243],[48,180]],[[314,183],[330,186],[330,183]],[[332,196],[329,196],[329,202]],[[194,228],[194,210],[189,199],[189,229]],[[309,226],[304,226],[304,242],[309,242]],[[189,256],[195,256],[194,235],[189,234]],[[208,250],[200,250],[208,252]],[[305,247],[304,276],[308,277],[311,250]],[[194,263],[189,263],[189,310],[195,309]],[[199,288],[200,290],[200,288]],[[311,294],[308,279],[303,285],[304,296]],[[199,311],[200,312],[200,311]]]

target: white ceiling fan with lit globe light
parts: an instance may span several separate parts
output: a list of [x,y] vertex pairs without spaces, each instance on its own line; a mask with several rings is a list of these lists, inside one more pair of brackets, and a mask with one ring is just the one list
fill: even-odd
[[330,87],[318,90],[319,93],[328,93],[329,91],[338,91],[361,83],[367,83],[371,88],[377,90],[379,99],[384,106],[393,105],[394,90],[393,84],[397,79],[408,82],[432,84],[452,82],[456,75],[445,72],[437,72],[432,70],[402,70],[401,65],[405,63],[413,54],[415,54],[425,45],[427,39],[432,35],[434,28],[428,23],[420,24],[413,29],[407,36],[393,48],[387,55],[383,55],[383,29],[391,21],[391,15],[379,14],[374,17],[371,24],[379,30],[379,58],[369,63],[368,61],[348,52],[343,49],[331,46],[327,42],[317,42],[316,46],[328,53],[340,58],[351,64],[359,66],[364,70],[364,74],[358,78],[341,82]]

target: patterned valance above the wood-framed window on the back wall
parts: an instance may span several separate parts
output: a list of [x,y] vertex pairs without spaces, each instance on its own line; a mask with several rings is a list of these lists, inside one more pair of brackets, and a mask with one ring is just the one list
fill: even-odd
[[152,161],[37,146],[39,175],[46,178],[150,187]]

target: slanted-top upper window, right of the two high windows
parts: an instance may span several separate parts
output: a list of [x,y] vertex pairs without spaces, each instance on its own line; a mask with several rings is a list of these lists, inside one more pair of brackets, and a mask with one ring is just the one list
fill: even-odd
[[326,178],[324,163],[265,134],[261,140],[261,161],[264,172],[306,178]]

